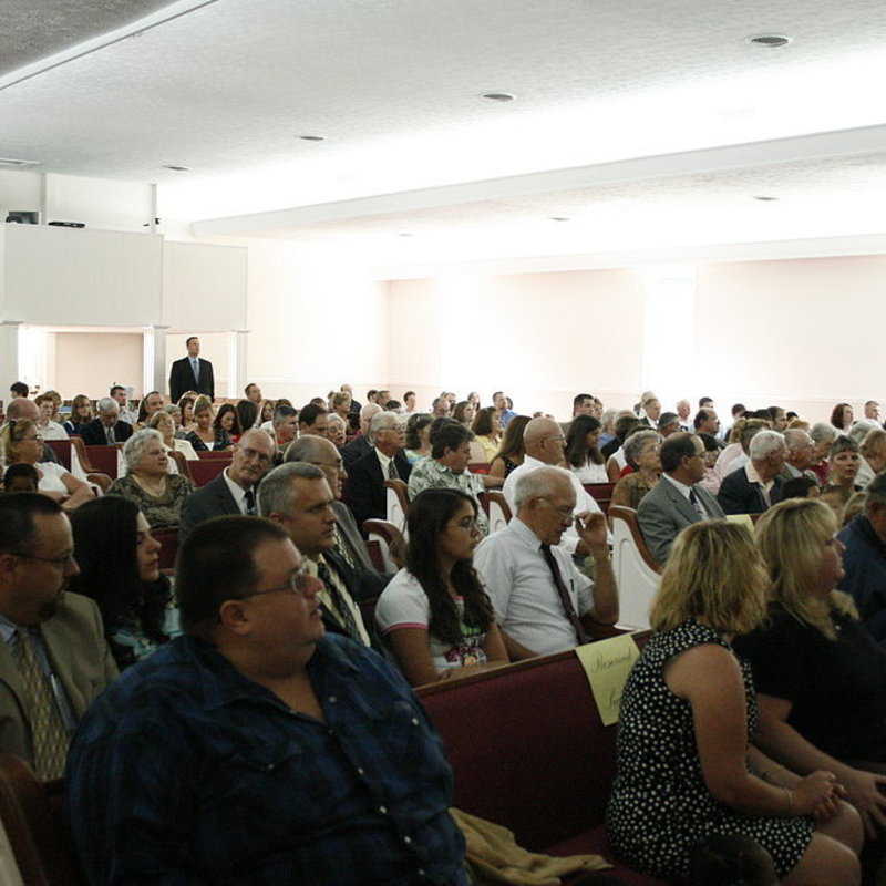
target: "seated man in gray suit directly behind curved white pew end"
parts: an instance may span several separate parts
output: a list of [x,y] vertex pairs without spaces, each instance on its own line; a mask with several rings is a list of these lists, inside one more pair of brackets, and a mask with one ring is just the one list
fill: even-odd
[[637,508],[637,522],[658,563],[691,523],[723,517],[717,499],[698,485],[704,477],[704,444],[694,434],[671,434],[661,444],[661,480]]

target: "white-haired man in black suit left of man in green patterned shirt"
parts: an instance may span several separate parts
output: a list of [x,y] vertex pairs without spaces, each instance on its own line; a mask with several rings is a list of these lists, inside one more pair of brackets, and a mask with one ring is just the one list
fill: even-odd
[[344,501],[353,512],[362,532],[363,521],[388,518],[388,491],[385,480],[409,483],[412,471],[403,454],[405,437],[395,412],[377,412],[369,423],[369,443],[372,449],[348,466]]

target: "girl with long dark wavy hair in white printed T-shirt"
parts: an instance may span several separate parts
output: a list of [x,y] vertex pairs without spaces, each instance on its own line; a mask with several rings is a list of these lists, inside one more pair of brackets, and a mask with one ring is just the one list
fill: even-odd
[[459,490],[425,490],[410,505],[406,566],[379,598],[375,621],[412,686],[507,663],[471,562],[476,516]]

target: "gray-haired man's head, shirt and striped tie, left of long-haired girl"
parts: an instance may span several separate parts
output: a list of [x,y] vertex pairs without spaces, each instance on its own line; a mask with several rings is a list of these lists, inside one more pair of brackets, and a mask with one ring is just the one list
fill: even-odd
[[268,474],[258,491],[262,517],[279,523],[305,556],[306,571],[323,583],[317,595],[328,631],[381,649],[375,626],[363,621],[360,581],[336,553],[336,512],[323,472],[306,462],[287,462]]

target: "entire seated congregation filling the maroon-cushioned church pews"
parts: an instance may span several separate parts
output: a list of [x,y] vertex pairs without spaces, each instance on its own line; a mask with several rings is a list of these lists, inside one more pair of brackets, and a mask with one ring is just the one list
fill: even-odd
[[[875,402],[106,390],[0,427],[0,752],[62,792],[55,882],[875,882]],[[610,506],[660,585],[605,725]]]

